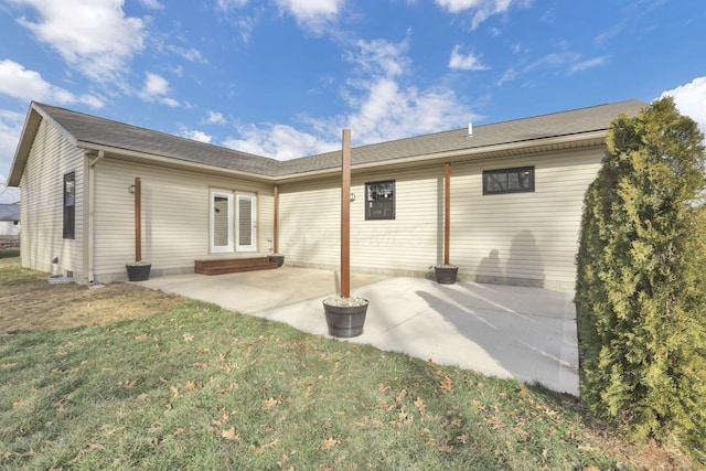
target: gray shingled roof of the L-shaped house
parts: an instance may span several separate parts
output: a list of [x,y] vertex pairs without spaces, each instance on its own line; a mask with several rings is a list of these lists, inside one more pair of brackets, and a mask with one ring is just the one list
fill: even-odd
[[[270,178],[333,169],[341,164],[341,151],[280,162],[64,108],[43,104],[35,104],[35,106],[46,113],[76,140],[84,143],[145,152]],[[621,113],[634,115],[645,104],[642,101],[629,99],[570,111],[475,126],[471,138],[468,137],[468,128],[462,128],[361,146],[352,149],[352,164],[386,162],[464,149],[479,150],[486,147],[563,136],[580,136],[581,133],[606,130],[609,122]]]

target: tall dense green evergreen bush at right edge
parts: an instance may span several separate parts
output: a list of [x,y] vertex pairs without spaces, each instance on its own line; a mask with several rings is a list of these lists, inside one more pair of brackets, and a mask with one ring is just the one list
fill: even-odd
[[577,256],[580,392],[637,439],[706,440],[704,135],[672,98],[611,125]]

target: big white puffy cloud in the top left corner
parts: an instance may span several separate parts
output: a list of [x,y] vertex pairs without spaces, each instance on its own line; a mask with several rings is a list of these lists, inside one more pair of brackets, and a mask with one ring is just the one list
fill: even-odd
[[36,10],[35,21],[18,22],[93,81],[118,77],[145,45],[145,22],[125,15],[124,0],[11,1]]

